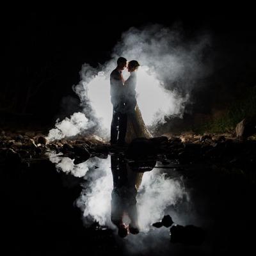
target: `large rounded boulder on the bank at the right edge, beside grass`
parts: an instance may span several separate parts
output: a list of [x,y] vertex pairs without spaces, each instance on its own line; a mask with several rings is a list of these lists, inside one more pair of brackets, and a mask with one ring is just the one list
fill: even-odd
[[249,136],[256,134],[256,122],[254,118],[244,118],[236,125],[236,137],[247,139]]

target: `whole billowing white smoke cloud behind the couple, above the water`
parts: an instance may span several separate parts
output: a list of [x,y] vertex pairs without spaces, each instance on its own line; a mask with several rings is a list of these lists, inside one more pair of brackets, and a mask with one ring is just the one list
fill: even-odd
[[[68,127],[67,123],[72,122],[71,116],[63,120],[64,124],[57,122],[57,129],[51,130],[49,139],[59,140],[90,129],[94,134],[108,138],[113,111],[109,75],[116,67],[119,56],[138,60],[141,65],[136,90],[138,105],[147,125],[163,124],[165,116],[182,117],[189,93],[198,79],[208,74],[203,62],[207,45],[207,35],[185,42],[182,32],[160,25],[129,29],[114,47],[111,60],[97,68],[85,63],[80,72],[81,81],[73,87],[80,97],[83,113],[92,125],[86,125],[87,120],[78,129],[74,129],[73,125]],[[128,76],[124,72],[124,77]],[[77,117],[84,120],[82,115]]]

